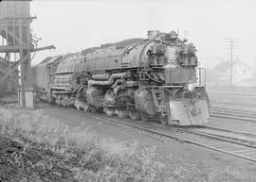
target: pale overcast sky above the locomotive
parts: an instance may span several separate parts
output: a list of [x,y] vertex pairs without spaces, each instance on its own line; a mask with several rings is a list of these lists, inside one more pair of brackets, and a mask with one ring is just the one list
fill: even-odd
[[229,60],[226,38],[238,38],[234,59],[254,67],[256,62],[256,1],[150,0],[82,1],[33,0],[33,33],[39,47],[53,44],[55,51],[36,53],[32,64],[47,56],[78,52],[90,46],[130,38],[146,38],[148,30],[179,29],[193,42],[203,66]]

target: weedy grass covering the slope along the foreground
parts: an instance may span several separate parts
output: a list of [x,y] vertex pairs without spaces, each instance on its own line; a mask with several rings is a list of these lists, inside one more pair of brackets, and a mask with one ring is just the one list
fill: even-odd
[[[6,161],[9,171],[13,169],[12,175],[6,178],[15,176],[19,179],[16,181],[254,180],[245,178],[233,167],[212,170],[200,159],[170,152],[159,155],[155,147],[103,139],[88,127],[62,124],[42,109],[0,108],[0,136],[22,146],[19,150],[9,149],[12,152],[0,158]],[[3,151],[4,147],[0,149]],[[1,177],[5,176],[0,174]]]

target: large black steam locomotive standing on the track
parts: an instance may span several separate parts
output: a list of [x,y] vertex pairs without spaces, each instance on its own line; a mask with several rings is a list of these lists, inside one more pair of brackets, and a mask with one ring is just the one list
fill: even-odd
[[205,70],[192,43],[176,32],[148,31],[81,53],[46,58],[32,67],[36,95],[64,107],[143,122],[208,123]]

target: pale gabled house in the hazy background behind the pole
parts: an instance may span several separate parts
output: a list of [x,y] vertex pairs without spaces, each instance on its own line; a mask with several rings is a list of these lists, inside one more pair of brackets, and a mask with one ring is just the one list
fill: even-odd
[[[232,62],[232,85],[255,86],[254,70],[242,61]],[[226,86],[230,84],[230,61],[221,61],[210,70],[208,84],[210,86]]]

